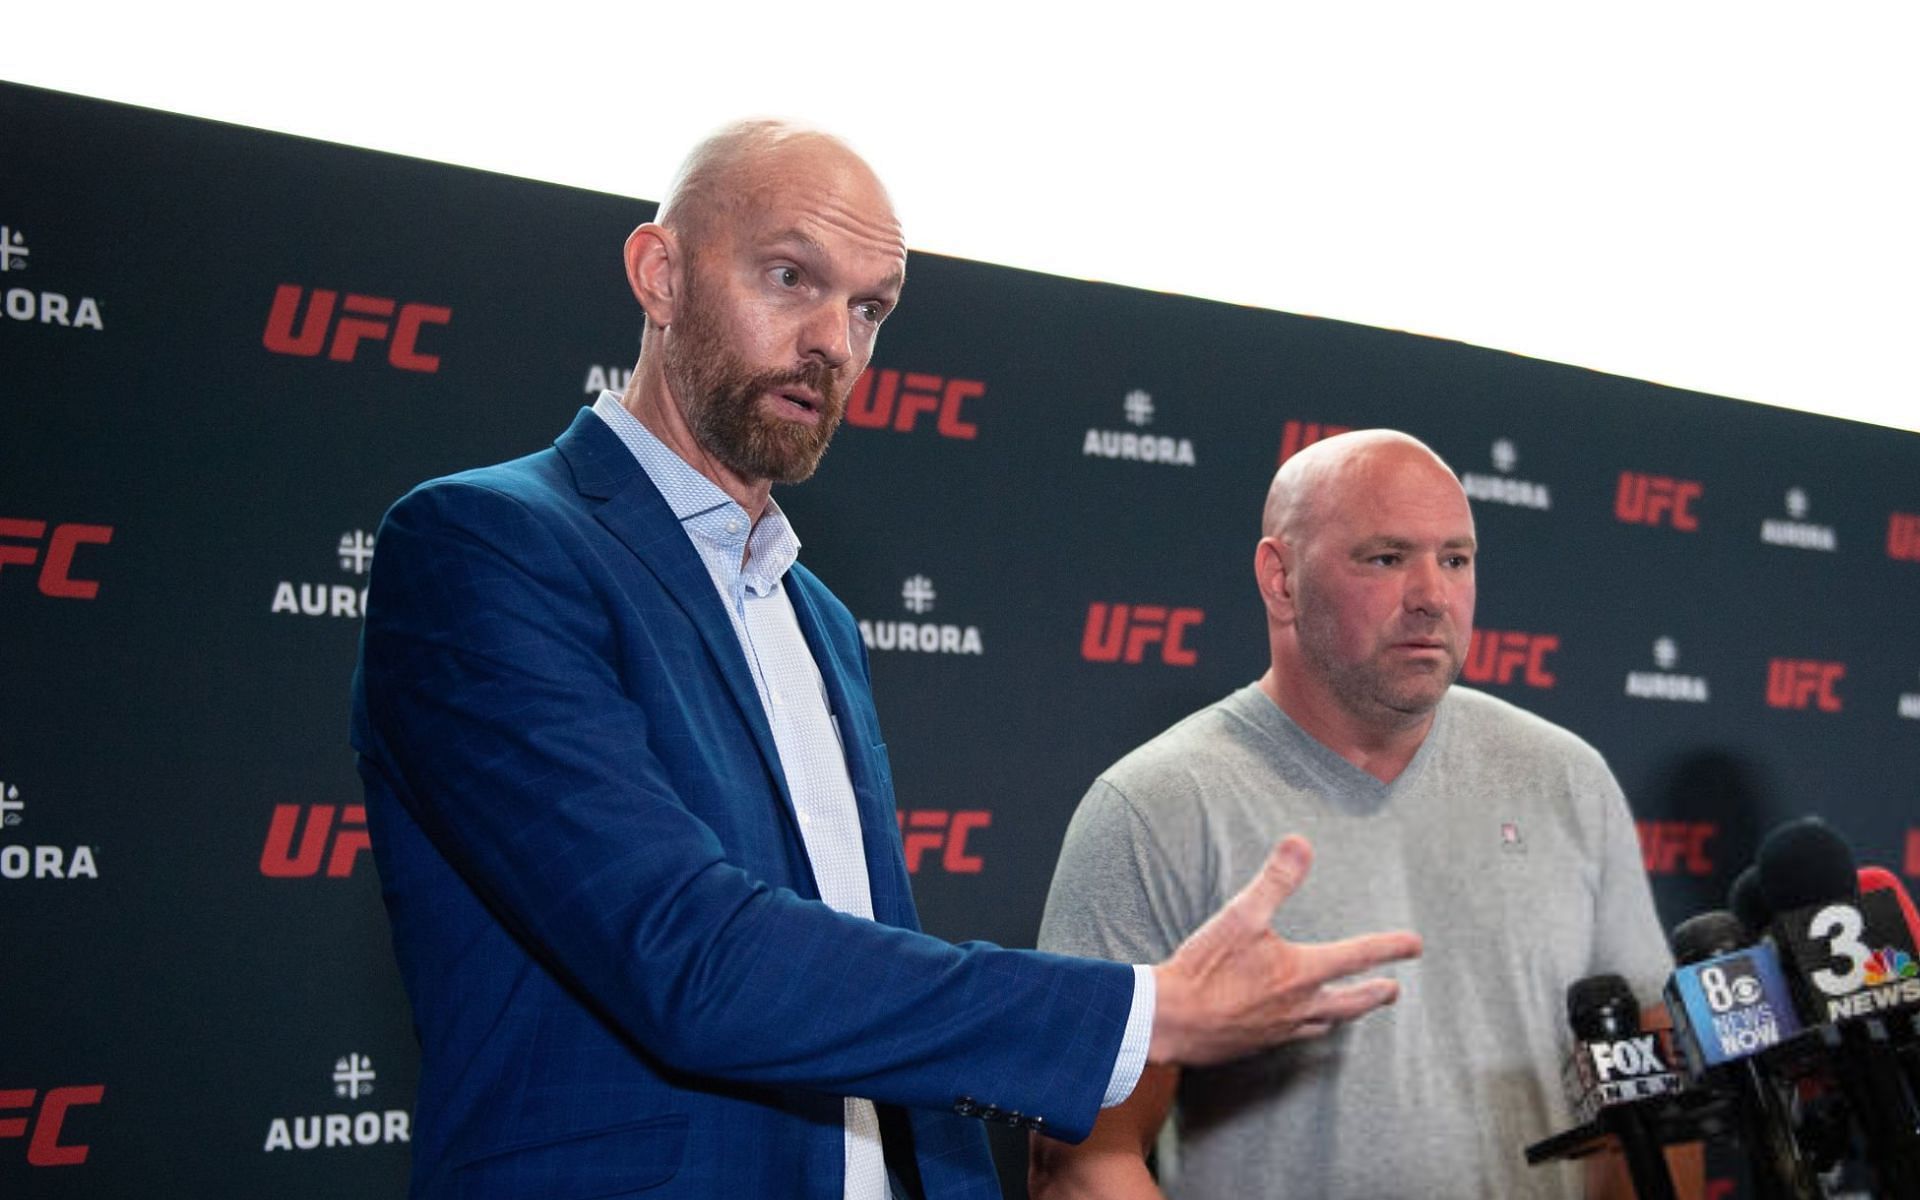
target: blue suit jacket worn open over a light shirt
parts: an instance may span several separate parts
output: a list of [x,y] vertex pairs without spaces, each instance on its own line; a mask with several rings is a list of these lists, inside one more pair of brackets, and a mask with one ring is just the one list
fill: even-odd
[[353,745],[422,1050],[417,1196],[837,1200],[843,1094],[889,1154],[910,1129],[927,1196],[996,1196],[966,1116],[1092,1127],[1129,968],[918,933],[858,630],[785,586],[872,922],[818,902],[726,609],[589,409],[388,513]]

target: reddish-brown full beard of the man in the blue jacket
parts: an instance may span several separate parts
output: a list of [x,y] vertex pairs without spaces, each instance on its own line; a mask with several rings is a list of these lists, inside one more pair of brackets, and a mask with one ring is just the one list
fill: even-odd
[[[687,271],[676,338],[662,361],[687,430],[701,449],[745,480],[799,484],[820,467],[847,415],[847,384],[818,359],[793,371],[753,371],[741,363],[695,275],[697,269]],[[818,397],[820,420],[803,424],[760,411],[762,396],[785,388],[808,388]]]

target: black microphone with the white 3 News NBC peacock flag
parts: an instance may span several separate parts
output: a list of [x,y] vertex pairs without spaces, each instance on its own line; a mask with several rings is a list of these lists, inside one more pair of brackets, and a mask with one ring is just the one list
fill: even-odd
[[1914,947],[1899,900],[1859,891],[1853,851],[1818,818],[1768,833],[1757,864],[1801,1016],[1832,1050],[1880,1192],[1920,1200],[1920,1102],[1884,1020],[1912,1008],[1907,993],[1920,987],[1903,977]]

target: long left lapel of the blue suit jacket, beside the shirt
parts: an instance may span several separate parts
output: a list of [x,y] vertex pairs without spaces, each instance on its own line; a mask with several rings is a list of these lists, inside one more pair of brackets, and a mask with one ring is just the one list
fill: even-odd
[[[580,493],[605,501],[593,513],[599,522],[634,551],[634,557],[653,572],[660,588],[674,597],[693,628],[699,630],[714,670],[733,697],[741,720],[753,732],[753,745],[780,791],[789,831],[799,839],[801,826],[793,810],[793,795],[787,791],[787,772],[780,764],[774,730],[766,724],[766,708],[760,707],[760,691],[753,684],[753,672],[747,666],[747,655],[739,649],[733,622],[687,532],[634,453],[620,442],[618,434],[607,428],[605,420],[593,415],[593,409],[582,409],[553,447],[572,468]],[[716,753],[732,751],[732,747],[714,749]]]

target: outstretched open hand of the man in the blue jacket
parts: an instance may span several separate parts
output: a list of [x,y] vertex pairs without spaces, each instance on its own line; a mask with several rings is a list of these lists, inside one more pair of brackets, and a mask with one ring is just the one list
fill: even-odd
[[1292,943],[1273,931],[1273,914],[1311,864],[1308,839],[1283,839],[1260,874],[1154,968],[1158,1000],[1148,1062],[1231,1062],[1317,1037],[1400,996],[1392,979],[1346,979],[1419,956],[1417,933]]

